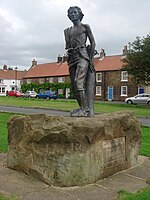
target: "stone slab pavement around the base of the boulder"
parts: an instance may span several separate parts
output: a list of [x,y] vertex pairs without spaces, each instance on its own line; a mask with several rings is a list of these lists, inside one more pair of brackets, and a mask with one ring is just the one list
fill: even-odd
[[55,187],[31,176],[8,169],[6,154],[0,154],[0,193],[15,194],[20,200],[117,200],[118,191],[137,192],[147,187],[150,159],[139,156],[138,164],[94,184],[82,187]]

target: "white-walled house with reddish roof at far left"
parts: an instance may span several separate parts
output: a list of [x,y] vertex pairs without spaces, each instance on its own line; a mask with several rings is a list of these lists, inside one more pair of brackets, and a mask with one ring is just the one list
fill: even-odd
[[0,69],[0,96],[6,96],[7,91],[20,90],[23,76],[26,71],[20,71],[17,68],[8,68],[7,65]]

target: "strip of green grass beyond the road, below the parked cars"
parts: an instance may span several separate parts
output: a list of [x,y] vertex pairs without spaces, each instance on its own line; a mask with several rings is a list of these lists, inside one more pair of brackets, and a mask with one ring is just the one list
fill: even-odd
[[[51,108],[60,110],[72,110],[77,107],[76,100],[44,100],[44,99],[28,99],[16,97],[0,97],[0,105],[25,106]],[[109,113],[116,111],[132,111],[136,116],[150,117],[150,106],[147,105],[127,105],[114,104],[111,102],[95,102],[96,113]]]

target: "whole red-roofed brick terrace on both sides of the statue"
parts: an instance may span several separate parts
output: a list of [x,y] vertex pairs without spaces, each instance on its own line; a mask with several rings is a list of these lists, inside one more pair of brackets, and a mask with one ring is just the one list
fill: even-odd
[[[135,85],[132,77],[122,70],[122,59],[127,51],[125,46],[121,55],[106,56],[104,49],[98,57],[94,58],[96,69],[96,100],[124,100],[128,96],[138,93],[150,92],[149,87]],[[23,82],[30,83],[66,83],[70,82],[67,65],[67,56],[58,56],[53,63],[37,64],[32,61],[32,66],[23,77]],[[61,90],[58,91],[62,92]],[[66,88],[65,95],[69,98],[70,88]]]

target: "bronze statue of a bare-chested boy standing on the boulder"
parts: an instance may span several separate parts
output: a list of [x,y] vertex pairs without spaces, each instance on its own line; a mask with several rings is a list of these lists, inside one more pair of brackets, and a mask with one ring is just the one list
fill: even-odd
[[[70,112],[72,117],[94,116],[95,40],[90,26],[81,23],[83,16],[79,7],[70,7],[68,17],[73,26],[64,30],[72,89],[79,104],[79,108]],[[90,42],[88,46],[87,38]]]

